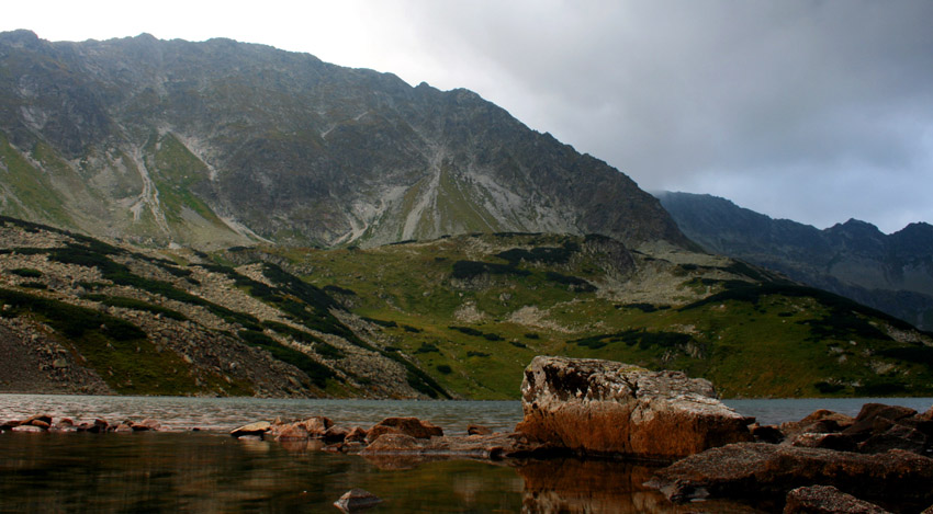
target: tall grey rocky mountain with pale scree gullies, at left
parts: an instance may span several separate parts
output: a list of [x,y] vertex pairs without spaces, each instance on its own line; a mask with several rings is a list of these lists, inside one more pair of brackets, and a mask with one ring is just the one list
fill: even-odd
[[149,245],[688,244],[628,176],[473,92],[229,39],[0,34],[0,173],[2,214]]

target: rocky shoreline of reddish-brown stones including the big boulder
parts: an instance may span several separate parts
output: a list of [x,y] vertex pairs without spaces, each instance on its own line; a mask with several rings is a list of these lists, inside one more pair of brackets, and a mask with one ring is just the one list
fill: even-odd
[[[359,454],[384,468],[449,458],[519,469],[565,456],[651,461],[657,467],[644,487],[699,511],[724,500],[765,501],[786,513],[933,512],[933,408],[867,403],[855,418],[818,410],[798,422],[760,425],[717,400],[707,380],[565,357],[536,357],[521,391],[525,416],[509,433],[470,426],[451,435],[417,418],[340,426],[317,415],[258,421],[231,435]],[[53,421],[33,415],[2,422],[0,432],[165,430],[155,420]]]

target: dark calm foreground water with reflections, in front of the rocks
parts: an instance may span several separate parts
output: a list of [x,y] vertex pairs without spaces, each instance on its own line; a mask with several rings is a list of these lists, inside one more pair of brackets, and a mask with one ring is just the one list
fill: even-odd
[[0,456],[2,512],[337,513],[352,488],[384,500],[372,513],[754,512],[673,505],[641,486],[653,468],[618,461],[372,462],[204,433],[4,433]]

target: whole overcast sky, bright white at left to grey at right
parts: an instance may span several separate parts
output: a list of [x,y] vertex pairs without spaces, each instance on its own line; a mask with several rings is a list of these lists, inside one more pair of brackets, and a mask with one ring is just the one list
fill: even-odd
[[[13,2],[8,2],[13,3]],[[229,37],[468,88],[648,191],[933,222],[930,0],[19,1],[49,41]]]

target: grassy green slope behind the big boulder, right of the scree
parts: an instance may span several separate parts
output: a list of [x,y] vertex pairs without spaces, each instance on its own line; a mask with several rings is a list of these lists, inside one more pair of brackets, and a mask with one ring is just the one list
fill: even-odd
[[[538,354],[683,369],[726,397],[933,395],[929,334],[732,261],[632,252],[619,277],[605,252],[557,236],[273,251],[468,398],[515,398]],[[647,279],[670,290],[644,301]]]

